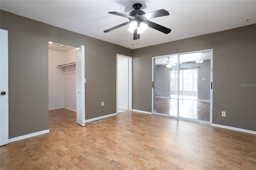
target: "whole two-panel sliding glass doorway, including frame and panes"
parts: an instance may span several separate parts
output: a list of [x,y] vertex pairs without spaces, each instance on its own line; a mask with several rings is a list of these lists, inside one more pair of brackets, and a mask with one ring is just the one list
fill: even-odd
[[212,123],[212,49],[152,57],[152,113]]

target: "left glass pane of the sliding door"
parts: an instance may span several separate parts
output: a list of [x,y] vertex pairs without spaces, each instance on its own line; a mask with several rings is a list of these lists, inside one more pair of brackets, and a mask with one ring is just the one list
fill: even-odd
[[177,55],[155,58],[154,113],[177,116],[177,86]]

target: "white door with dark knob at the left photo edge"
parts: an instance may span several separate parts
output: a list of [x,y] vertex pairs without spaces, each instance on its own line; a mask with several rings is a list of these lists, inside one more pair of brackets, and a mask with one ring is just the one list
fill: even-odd
[[0,32],[0,146],[8,144],[8,31]]

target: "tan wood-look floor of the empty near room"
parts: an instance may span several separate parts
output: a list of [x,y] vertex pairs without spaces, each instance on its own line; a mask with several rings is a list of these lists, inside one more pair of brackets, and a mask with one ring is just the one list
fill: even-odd
[[49,111],[50,133],[0,147],[1,170],[256,168],[256,135],[126,111],[101,124]]

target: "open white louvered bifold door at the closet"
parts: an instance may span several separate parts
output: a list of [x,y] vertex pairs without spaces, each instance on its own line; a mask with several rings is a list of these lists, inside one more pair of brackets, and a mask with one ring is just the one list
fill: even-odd
[[76,49],[76,123],[85,126],[84,45]]

